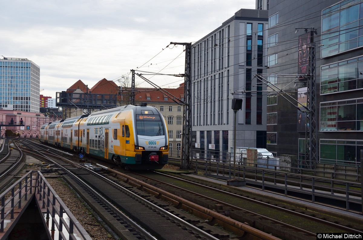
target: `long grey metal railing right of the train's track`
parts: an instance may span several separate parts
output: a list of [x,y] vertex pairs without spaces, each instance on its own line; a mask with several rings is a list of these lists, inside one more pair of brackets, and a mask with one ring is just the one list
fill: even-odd
[[[262,190],[267,186],[277,186],[284,190],[284,194],[288,195],[289,190],[299,191],[311,195],[311,201],[315,202],[317,196],[329,196],[329,198],[345,201],[345,208],[350,209],[350,204],[362,204],[359,198],[351,196],[360,196],[361,183],[358,181],[346,181],[337,179],[336,174],[329,171],[311,170],[309,174],[299,168],[291,167],[290,171],[278,170],[278,166],[249,163],[243,165],[238,162],[236,170],[234,170],[233,161],[211,161],[211,160],[193,160],[193,167],[196,173],[204,173],[220,179],[237,179],[258,182]],[[292,170],[296,173],[292,173]],[[235,172],[234,172],[235,171]],[[311,173],[312,172],[312,173]],[[317,177],[317,175],[330,174],[330,177]],[[358,174],[348,174],[352,178],[359,179]]]

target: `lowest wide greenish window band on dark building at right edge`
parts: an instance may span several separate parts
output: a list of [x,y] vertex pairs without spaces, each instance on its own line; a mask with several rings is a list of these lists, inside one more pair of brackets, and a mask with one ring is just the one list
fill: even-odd
[[320,162],[356,164],[360,161],[363,142],[355,140],[320,140]]

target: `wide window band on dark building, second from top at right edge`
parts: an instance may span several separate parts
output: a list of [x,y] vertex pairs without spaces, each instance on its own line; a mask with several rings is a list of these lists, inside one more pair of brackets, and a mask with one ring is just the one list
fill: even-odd
[[321,94],[363,88],[363,57],[321,67]]

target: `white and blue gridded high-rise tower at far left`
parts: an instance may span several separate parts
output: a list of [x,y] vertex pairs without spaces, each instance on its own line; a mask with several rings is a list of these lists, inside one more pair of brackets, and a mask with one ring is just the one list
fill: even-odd
[[40,68],[26,58],[0,59],[0,108],[39,112]]

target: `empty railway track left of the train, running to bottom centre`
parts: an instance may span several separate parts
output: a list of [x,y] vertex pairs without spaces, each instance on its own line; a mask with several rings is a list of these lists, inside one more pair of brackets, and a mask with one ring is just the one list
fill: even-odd
[[[25,145],[28,144],[24,143],[24,148]],[[29,147],[29,145],[26,146],[26,148]],[[35,155],[35,148],[37,155]],[[49,152],[50,150],[52,152]],[[203,221],[196,227],[195,217],[191,219],[192,216],[189,215],[188,218],[186,214],[182,219],[180,216],[171,214],[170,212],[178,212],[178,210],[107,174],[96,173],[64,157],[56,157],[54,150],[34,146],[28,154],[37,158],[46,158],[44,161],[51,161],[55,168],[61,169],[57,171],[122,239],[228,239],[231,237],[220,228],[208,224],[206,224],[208,229],[206,226],[204,229],[210,233],[203,231],[201,229]],[[107,216],[102,217],[105,213]]]

